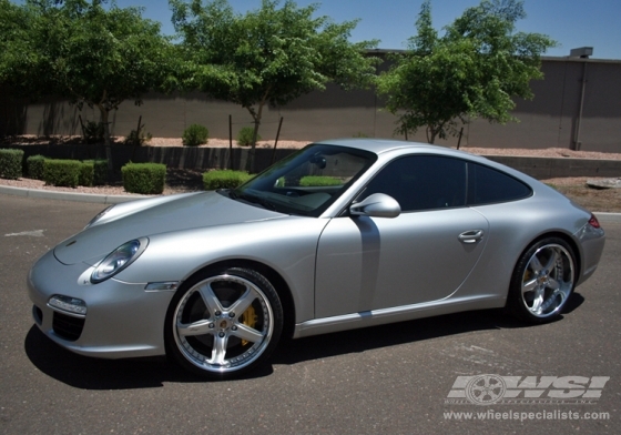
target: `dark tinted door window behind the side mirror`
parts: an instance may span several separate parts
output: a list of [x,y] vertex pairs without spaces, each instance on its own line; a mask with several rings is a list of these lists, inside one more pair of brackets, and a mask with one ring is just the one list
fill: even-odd
[[401,212],[466,204],[466,162],[436,155],[409,155],[388,163],[367,184],[363,196],[385,193]]

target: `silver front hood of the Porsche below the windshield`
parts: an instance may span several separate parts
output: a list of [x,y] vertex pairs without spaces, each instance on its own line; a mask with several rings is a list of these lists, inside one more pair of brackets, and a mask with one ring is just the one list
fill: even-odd
[[[57,260],[63,264],[85,262],[94,265],[114,249],[133,239],[286,216],[215,192],[181,194],[164,200],[125,204],[130,204],[125,213],[103,223],[96,222],[55,246]],[[102,221],[105,220],[104,218]]]

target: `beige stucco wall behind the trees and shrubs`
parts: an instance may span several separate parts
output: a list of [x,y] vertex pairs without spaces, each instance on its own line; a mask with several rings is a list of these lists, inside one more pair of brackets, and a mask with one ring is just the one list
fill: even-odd
[[[567,148],[576,146],[586,69],[586,88],[578,142],[581,150],[621,152],[621,61],[546,58],[544,80],[533,81],[532,101],[517,101],[513,115],[520,120],[506,125],[474,120],[464,130],[461,146],[482,148]],[[78,115],[98,120],[96,110],[81,112],[62,101],[37,103],[11,101],[0,89],[0,135],[2,134],[80,134]],[[283,108],[267,108],[261,135],[273,140],[279,118],[284,118],[282,140],[319,140],[365,134],[393,138],[395,117],[381,111],[373,91],[345,92],[330,85],[325,92],[303,95]],[[228,136],[228,115],[233,134],[251,125],[250,114],[234,104],[213,101],[200,93],[147,94],[142,105],[131,101],[111,114],[111,131],[125,135],[135,129],[139,117],[154,136],[180,138],[192,123],[210,129],[212,138]],[[403,139],[403,136],[396,136]],[[409,140],[425,141],[419,131]],[[457,144],[457,139],[437,141]]]

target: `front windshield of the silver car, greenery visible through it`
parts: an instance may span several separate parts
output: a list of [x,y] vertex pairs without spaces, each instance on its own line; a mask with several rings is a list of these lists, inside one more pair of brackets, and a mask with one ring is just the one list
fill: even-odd
[[377,159],[346,146],[310,144],[230,192],[281,213],[318,216]]

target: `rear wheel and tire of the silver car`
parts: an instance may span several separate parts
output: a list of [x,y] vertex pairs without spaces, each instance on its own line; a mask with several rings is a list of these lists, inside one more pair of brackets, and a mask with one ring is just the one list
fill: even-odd
[[558,320],[576,286],[576,255],[566,241],[548,237],[533,243],[511,276],[509,312],[535,324]]

